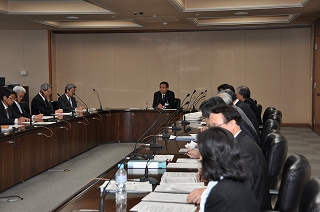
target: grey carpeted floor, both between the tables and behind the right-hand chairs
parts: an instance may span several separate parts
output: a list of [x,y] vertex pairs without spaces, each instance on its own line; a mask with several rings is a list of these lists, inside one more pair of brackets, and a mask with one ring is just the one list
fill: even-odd
[[[291,154],[302,154],[311,164],[311,177],[320,177],[320,137],[308,128],[282,127]],[[47,212],[71,196],[90,179],[99,176],[111,165],[128,154],[134,144],[111,143],[95,147],[52,170],[39,174],[0,193],[0,197],[18,195],[17,202],[2,202],[1,212]],[[62,172],[69,169],[69,172]]]

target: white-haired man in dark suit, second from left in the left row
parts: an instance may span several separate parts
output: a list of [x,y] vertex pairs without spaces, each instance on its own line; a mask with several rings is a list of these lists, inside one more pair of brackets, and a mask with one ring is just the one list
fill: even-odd
[[42,116],[43,116],[42,114],[32,116],[30,115],[29,106],[27,104],[22,104],[21,101],[24,98],[24,95],[26,93],[26,89],[24,89],[24,87],[17,85],[13,88],[13,91],[16,93],[16,96],[17,96],[16,100],[11,105],[15,113],[27,118],[42,119]]

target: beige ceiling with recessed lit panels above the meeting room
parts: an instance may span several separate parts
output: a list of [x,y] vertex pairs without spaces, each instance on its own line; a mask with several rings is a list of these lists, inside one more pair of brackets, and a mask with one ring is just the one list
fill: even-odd
[[0,0],[0,30],[283,28],[319,17],[320,0]]

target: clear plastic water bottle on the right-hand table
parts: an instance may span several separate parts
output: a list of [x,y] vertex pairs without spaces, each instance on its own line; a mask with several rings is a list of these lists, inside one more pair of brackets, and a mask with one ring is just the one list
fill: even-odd
[[118,164],[118,171],[116,172],[116,205],[117,212],[127,211],[127,171],[124,169],[124,164]]

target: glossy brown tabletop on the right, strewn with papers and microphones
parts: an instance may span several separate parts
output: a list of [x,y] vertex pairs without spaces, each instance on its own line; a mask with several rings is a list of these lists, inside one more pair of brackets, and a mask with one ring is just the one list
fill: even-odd
[[[196,126],[200,126],[198,123],[195,124]],[[183,130],[186,129],[189,126],[179,126],[182,129],[180,131],[169,133],[176,136],[185,136],[186,133],[183,133]],[[199,132],[198,128],[192,128],[192,133]],[[152,141],[151,141],[152,142]],[[161,137],[158,137],[156,140],[158,144],[162,145],[162,148],[154,148],[150,149],[145,146],[140,146],[138,149],[138,154],[140,156],[147,156],[147,155],[174,155],[172,163],[175,162],[178,158],[188,158],[184,153],[179,153],[179,150],[181,148],[186,148],[185,144],[189,143],[190,140],[170,140],[170,139],[162,139]],[[122,161],[123,158],[119,156],[119,162]],[[141,177],[144,177],[144,169],[142,169],[140,172],[138,171],[138,174],[132,174],[132,172],[135,172],[134,169],[128,169],[127,162],[125,163],[125,168],[128,171],[128,179],[138,179]],[[168,162],[170,163],[170,162]],[[102,173],[98,178],[101,179],[94,179],[91,182],[89,182],[87,185],[84,185],[83,188],[81,188],[78,192],[76,192],[74,195],[66,199],[64,202],[62,202],[60,205],[58,205],[55,209],[52,210],[52,212],[78,212],[78,211],[99,211],[99,205],[100,205],[100,186],[105,182],[105,180],[114,179],[114,173],[118,170],[117,164],[114,164],[112,167],[107,169],[104,173]],[[170,168],[170,169],[156,169],[156,170],[150,170],[148,177],[152,177],[157,179],[159,182],[161,180],[161,176],[165,171],[169,172],[197,172],[197,169],[191,168],[191,169],[176,169],[176,168]],[[156,172],[156,173],[154,173]],[[153,185],[153,189],[156,186]],[[127,198],[127,211],[129,211],[132,207],[134,207],[136,204],[138,204],[141,199],[146,196],[146,193],[128,193]],[[116,203],[115,203],[115,194],[114,193],[106,193],[104,198],[104,211],[116,211]]]

